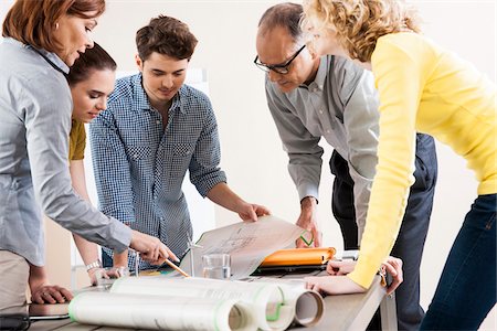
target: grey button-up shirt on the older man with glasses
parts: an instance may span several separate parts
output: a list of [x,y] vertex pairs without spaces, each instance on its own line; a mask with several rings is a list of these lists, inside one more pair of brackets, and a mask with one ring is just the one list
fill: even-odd
[[378,163],[378,93],[373,76],[353,62],[322,56],[308,86],[282,93],[266,76],[266,96],[299,199],[318,199],[321,137],[349,164],[359,241],[366,225],[369,195]]

